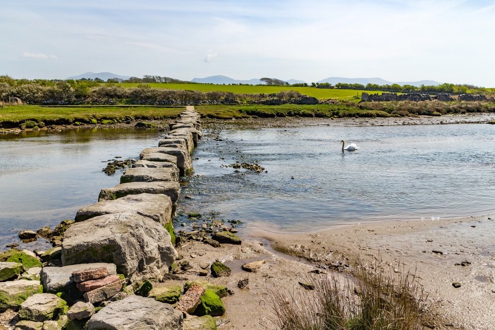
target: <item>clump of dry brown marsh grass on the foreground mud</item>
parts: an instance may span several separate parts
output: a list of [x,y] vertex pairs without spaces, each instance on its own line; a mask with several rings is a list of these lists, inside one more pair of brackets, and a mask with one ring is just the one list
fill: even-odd
[[308,276],[314,290],[272,290],[274,325],[282,330],[423,329],[426,294],[410,272],[358,263],[352,276]]

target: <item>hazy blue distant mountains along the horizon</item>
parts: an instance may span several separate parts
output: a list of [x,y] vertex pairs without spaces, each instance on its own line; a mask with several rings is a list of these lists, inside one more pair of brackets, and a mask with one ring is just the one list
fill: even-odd
[[[131,76],[122,76],[122,75],[117,75],[115,73],[111,72],[99,72],[99,73],[94,73],[94,72],[86,72],[83,74],[80,74],[79,76],[73,76],[73,77],[68,77],[65,78],[67,79],[95,79],[99,78],[103,81],[107,81],[108,79],[111,78],[119,78],[119,79],[129,79]],[[305,83],[303,80],[296,80],[296,79],[291,79],[291,80],[284,80],[290,85],[293,84],[303,84]],[[191,80],[193,83],[200,83],[200,84],[214,84],[214,85],[232,85],[232,84],[247,84],[247,85],[259,85],[259,84],[264,84],[261,80],[258,78],[253,78],[249,80],[238,80],[238,79],[233,79],[230,77],[222,76],[222,75],[217,75],[217,76],[210,76],[210,77],[205,77],[205,78],[194,78]],[[393,84],[398,84],[398,85],[411,85],[411,86],[437,86],[441,85],[441,83],[433,81],[433,80],[421,80],[421,81],[409,81],[409,82],[390,82],[382,78],[344,78],[344,77],[328,77],[323,80],[320,80],[318,83],[329,83],[333,86],[337,85],[338,83],[345,83],[345,84],[361,84],[366,86],[367,84],[378,84],[378,85],[393,85]],[[308,83],[310,84],[310,83]]]

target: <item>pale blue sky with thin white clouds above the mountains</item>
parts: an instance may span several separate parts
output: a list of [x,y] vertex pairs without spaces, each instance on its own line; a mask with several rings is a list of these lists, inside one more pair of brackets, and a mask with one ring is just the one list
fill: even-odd
[[15,0],[0,75],[112,72],[495,87],[495,0]]

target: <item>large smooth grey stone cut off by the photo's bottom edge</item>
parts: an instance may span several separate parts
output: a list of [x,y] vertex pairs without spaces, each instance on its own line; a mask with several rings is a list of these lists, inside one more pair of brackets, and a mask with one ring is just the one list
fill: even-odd
[[182,312],[171,305],[131,295],[112,301],[93,315],[88,330],[183,330]]

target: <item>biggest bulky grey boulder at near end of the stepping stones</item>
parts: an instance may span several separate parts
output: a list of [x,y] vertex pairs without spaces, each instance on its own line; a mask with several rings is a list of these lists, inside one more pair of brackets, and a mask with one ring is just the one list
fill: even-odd
[[71,225],[62,242],[62,264],[108,262],[132,283],[162,278],[177,257],[159,223],[132,213],[104,214]]

